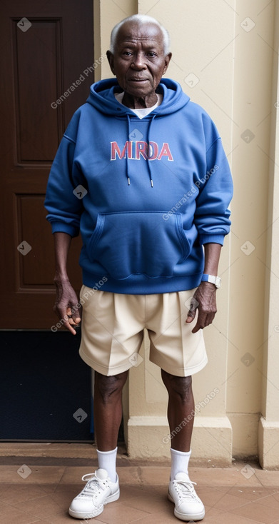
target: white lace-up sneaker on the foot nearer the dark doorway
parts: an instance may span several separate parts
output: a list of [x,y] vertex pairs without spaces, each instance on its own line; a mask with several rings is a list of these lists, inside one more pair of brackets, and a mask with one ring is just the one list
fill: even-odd
[[88,480],[83,490],[71,502],[69,514],[74,518],[93,518],[100,515],[103,505],[119,498],[119,480],[111,482],[108,472],[98,469],[95,473],[83,475]]

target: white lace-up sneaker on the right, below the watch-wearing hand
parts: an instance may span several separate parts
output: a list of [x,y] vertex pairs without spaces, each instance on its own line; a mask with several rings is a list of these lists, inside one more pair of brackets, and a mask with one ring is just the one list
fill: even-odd
[[174,515],[180,520],[201,520],[205,515],[204,505],[198,498],[195,482],[186,473],[177,473],[168,485],[168,499],[175,504]]

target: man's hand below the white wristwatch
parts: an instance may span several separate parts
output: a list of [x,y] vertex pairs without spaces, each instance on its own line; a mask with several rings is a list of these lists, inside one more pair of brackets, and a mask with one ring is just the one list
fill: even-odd
[[[192,308],[193,304],[193,308]],[[186,323],[193,322],[196,317],[196,312],[198,310],[198,321],[196,326],[192,329],[192,333],[196,333],[199,329],[203,329],[206,326],[209,326],[213,322],[216,308],[216,288],[214,284],[210,282],[201,282],[201,284],[196,289],[193,294],[193,299],[191,302],[191,308],[188,312],[186,318]]]

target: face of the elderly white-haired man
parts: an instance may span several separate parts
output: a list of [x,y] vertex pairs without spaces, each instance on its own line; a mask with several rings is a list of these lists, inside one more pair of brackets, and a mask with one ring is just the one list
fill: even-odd
[[108,51],[118,84],[134,98],[155,93],[166,73],[171,53],[165,56],[163,34],[156,24],[126,22],[118,31],[114,54]]

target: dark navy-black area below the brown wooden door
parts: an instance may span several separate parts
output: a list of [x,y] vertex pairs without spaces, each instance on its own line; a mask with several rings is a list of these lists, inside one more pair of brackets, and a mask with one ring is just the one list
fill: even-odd
[[93,440],[91,369],[78,355],[79,339],[0,332],[0,440]]

